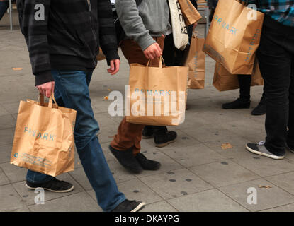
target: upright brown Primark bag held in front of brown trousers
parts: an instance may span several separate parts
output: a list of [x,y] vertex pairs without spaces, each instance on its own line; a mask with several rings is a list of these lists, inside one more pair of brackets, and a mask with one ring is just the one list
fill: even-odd
[[126,119],[134,124],[178,126],[185,119],[188,67],[130,64]]

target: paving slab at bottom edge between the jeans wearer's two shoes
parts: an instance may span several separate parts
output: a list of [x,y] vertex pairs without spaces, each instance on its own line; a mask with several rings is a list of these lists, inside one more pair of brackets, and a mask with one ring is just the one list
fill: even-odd
[[96,201],[86,191],[45,201],[45,204],[32,205],[28,208],[33,212],[101,212]]

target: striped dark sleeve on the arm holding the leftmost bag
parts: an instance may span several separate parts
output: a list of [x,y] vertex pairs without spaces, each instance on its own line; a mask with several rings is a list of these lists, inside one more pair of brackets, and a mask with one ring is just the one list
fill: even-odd
[[35,85],[54,81],[51,74],[47,23],[51,0],[17,1],[21,32],[26,38]]

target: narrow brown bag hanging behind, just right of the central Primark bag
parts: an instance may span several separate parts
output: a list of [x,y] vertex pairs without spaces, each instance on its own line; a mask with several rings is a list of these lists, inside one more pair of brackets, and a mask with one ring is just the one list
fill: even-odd
[[205,54],[203,52],[204,39],[195,34],[191,38],[188,56],[184,63],[188,66],[188,88],[203,89],[205,85]]

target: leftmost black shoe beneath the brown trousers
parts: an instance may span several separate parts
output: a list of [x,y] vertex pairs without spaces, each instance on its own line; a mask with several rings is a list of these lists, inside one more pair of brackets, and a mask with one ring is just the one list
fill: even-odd
[[111,145],[109,145],[109,150],[113,153],[114,157],[120,162],[120,165],[125,167],[125,169],[130,170],[131,172],[140,173],[143,171],[141,165],[135,159],[135,156],[132,154],[132,148],[128,150],[116,150]]

